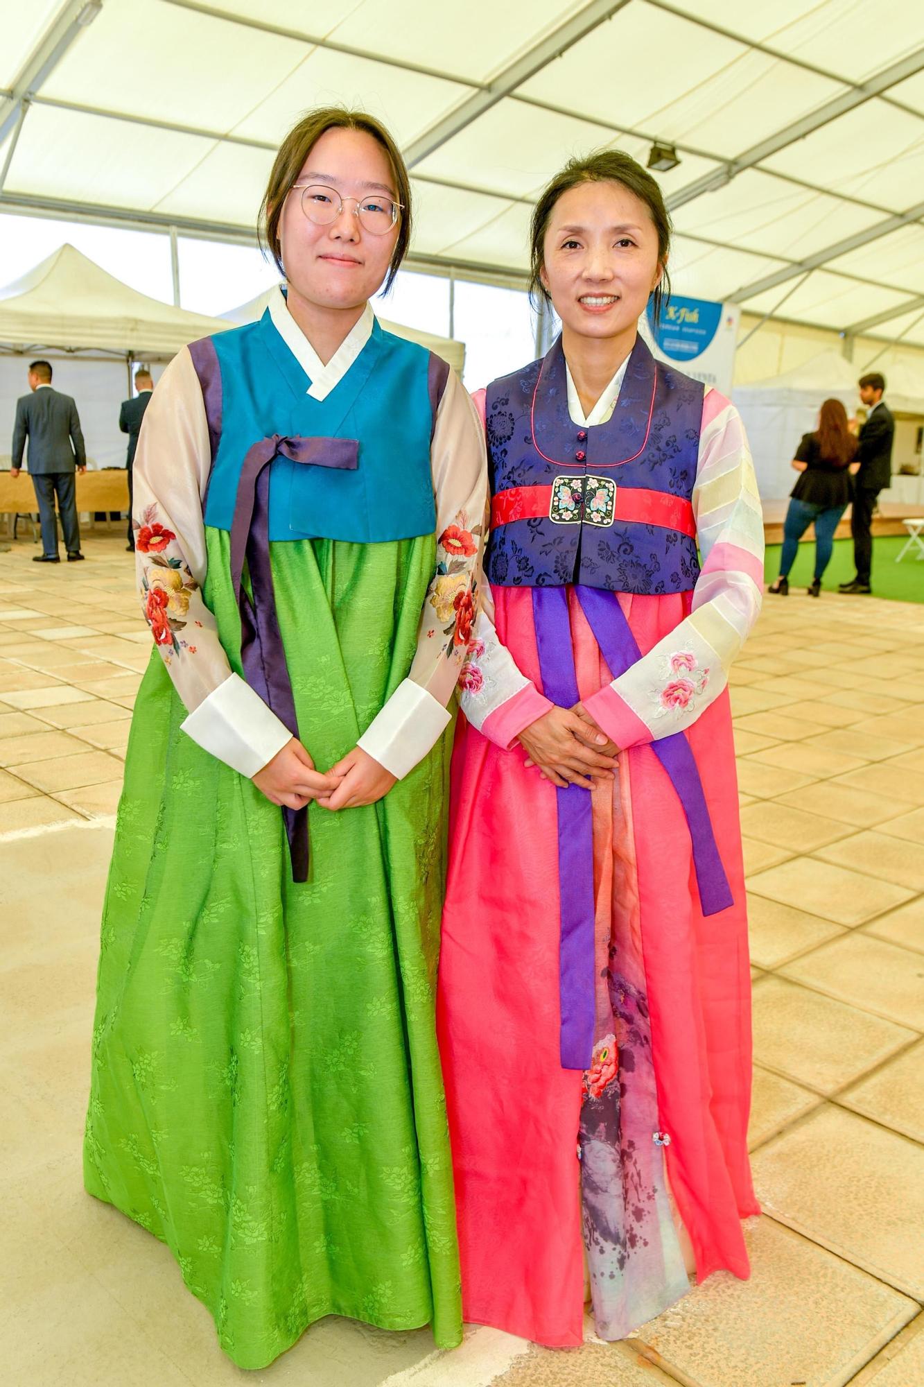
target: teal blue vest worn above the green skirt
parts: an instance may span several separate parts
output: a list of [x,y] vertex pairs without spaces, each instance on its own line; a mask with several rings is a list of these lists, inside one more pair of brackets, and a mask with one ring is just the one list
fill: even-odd
[[[326,399],[273,326],[258,323],[190,347],[203,388],[212,467],[205,524],[232,530],[248,451],[272,436],[357,444],[355,465],[305,466],[277,455],[269,472],[268,538],[380,542],[431,534],[430,442],[448,368],[425,347],[382,330]],[[343,447],[343,445],[341,445]]]

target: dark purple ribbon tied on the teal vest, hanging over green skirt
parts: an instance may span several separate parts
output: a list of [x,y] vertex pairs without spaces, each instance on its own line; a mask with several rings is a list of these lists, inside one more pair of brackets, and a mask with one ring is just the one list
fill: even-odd
[[[240,612],[240,659],[244,678],[273,710],[293,736],[298,736],[296,699],[286,664],[273,574],[269,562],[269,463],[283,456],[315,467],[358,466],[355,438],[284,438],[271,434],[255,442],[244,458],[230,533],[230,570]],[[247,559],[250,592],[241,584]],[[308,806],[283,809],[293,881],[308,881]]]

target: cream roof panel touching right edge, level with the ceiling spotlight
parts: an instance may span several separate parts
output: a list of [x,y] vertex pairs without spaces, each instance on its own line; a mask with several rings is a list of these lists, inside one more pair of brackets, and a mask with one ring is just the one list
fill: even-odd
[[764,160],[767,168],[902,212],[924,190],[924,122],[871,100]]

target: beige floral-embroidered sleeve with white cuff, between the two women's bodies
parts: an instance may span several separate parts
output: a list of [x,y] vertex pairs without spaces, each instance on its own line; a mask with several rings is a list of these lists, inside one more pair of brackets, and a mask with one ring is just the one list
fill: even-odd
[[488,487],[484,434],[454,372],[437,411],[430,452],[437,509],[437,565],[427,589],[408,678],[359,738],[393,775],[420,761],[450,723],[447,705],[473,634],[481,581]]

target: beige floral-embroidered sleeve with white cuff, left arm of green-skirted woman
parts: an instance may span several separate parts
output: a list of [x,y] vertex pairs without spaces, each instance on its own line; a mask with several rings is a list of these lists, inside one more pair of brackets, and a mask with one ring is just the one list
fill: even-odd
[[183,348],[151,395],[135,456],[137,580],[154,644],[189,710],[183,731],[243,775],[254,775],[291,734],[232,673],[203,598],[209,459],[203,393]]

